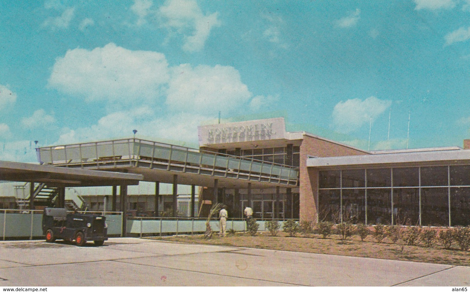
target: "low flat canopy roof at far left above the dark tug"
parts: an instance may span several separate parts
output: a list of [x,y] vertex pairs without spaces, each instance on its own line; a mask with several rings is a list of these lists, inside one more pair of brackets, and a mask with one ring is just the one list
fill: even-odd
[[139,174],[71,169],[51,165],[0,161],[0,180],[45,183],[48,186],[136,185]]

